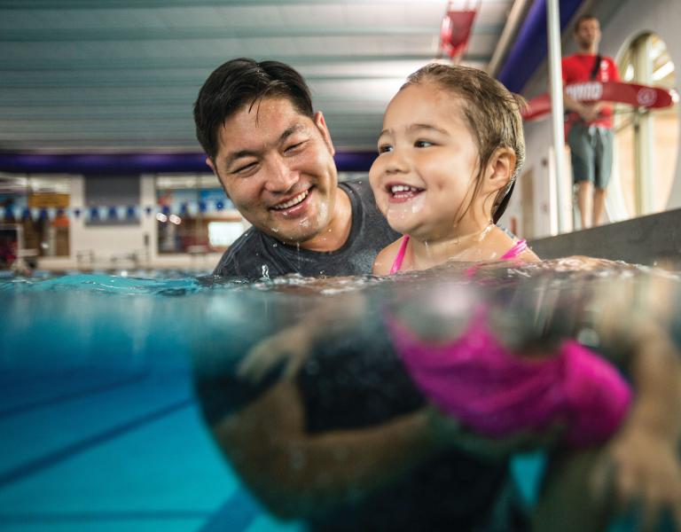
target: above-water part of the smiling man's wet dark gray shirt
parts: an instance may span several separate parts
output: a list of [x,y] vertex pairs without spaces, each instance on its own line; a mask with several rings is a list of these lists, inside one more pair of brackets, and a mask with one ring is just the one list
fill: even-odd
[[376,255],[400,237],[390,229],[373,199],[367,178],[339,184],[352,205],[346,243],[331,252],[288,246],[251,227],[223,254],[215,275],[256,280],[288,273],[305,277],[363,275],[372,272]]

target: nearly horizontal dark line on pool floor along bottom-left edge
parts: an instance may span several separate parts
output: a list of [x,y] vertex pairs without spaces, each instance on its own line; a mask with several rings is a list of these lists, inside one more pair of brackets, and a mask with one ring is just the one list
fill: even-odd
[[0,524],[68,523],[118,520],[197,520],[206,519],[204,510],[129,510],[122,512],[35,512],[0,513]]

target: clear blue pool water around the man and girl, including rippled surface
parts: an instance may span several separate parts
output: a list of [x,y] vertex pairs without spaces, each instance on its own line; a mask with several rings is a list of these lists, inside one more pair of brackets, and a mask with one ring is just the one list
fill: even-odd
[[[448,275],[326,281],[292,277],[250,285],[213,278],[109,275],[0,282],[0,528],[300,529],[270,517],[223,459],[194,396],[197,368],[216,349],[229,346],[229,356],[238,356],[310,307],[342,304],[356,293],[370,303],[378,301],[383,309],[428,308],[420,320],[416,310],[417,329],[450,323],[465,304],[454,305],[454,310],[446,304],[422,304],[432,303],[434,292],[445,294],[447,301],[458,293],[462,281],[451,281]],[[614,263],[584,269],[555,262],[489,274],[483,269],[475,290],[520,286],[511,298],[516,322],[510,330],[527,337],[532,331],[518,320],[523,311],[536,310],[537,301],[552,305],[546,315],[555,326],[547,327],[551,320],[544,320],[544,333],[560,334],[559,325],[564,325],[559,322],[565,321],[565,313],[556,312],[556,305],[573,305],[568,308],[572,315],[583,310],[574,307],[579,297],[549,303],[547,286],[552,293],[605,294],[587,301],[589,312],[598,314],[599,304],[611,302],[610,288],[616,285],[622,293],[622,284],[630,282],[631,309],[647,312],[649,303],[641,303],[648,301],[641,292],[651,278],[663,279],[668,293],[672,288],[676,305],[676,276]],[[508,290],[503,297],[508,299]],[[440,322],[433,309],[443,309]],[[679,318],[673,309],[666,316],[677,333]],[[513,463],[528,502],[536,496],[541,470],[539,455]]]

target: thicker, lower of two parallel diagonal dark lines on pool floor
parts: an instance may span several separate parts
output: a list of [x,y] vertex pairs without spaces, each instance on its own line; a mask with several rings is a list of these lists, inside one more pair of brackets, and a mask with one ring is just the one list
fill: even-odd
[[62,449],[52,451],[51,453],[41,458],[29,460],[26,464],[19,465],[18,467],[14,467],[13,469],[9,470],[6,473],[0,474],[0,489],[7,487],[13,482],[23,480],[27,476],[30,476],[35,473],[40,473],[44,469],[47,469],[53,465],[58,465],[59,462],[63,462],[68,458],[72,458],[76,454],[84,450],[89,450],[90,448],[95,447],[101,443],[108,442],[109,440],[113,440],[118,436],[129,433],[139,428],[140,426],[152,423],[153,421],[165,418],[166,416],[175,413],[176,411],[192,406],[193,403],[194,401],[191,397],[185,398],[182,401],[177,401],[176,403],[169,404],[168,406],[163,407],[160,410],[150,412],[148,414],[145,414],[144,416],[140,416],[137,419],[133,419],[131,421],[128,421],[127,423],[123,423],[122,425],[114,426],[114,428],[110,428],[100,434],[95,434],[93,436],[85,438],[80,442],[71,443],[70,445],[63,447]]

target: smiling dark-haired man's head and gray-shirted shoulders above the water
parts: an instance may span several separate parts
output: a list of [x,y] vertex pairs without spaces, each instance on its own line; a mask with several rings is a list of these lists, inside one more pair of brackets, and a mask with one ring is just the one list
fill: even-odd
[[194,106],[207,164],[253,224],[215,273],[273,278],[287,273],[371,273],[397,239],[369,180],[338,184],[324,115],[293,68],[234,59],[215,69]]

